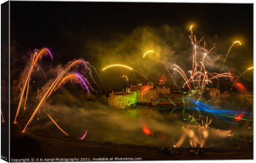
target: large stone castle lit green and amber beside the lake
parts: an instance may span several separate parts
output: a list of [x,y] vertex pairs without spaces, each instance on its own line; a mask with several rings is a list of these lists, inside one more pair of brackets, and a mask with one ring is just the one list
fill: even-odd
[[153,83],[148,82],[147,85],[151,87],[146,93],[142,93],[142,83],[137,85],[130,85],[126,88],[126,92],[114,92],[109,94],[109,106],[115,108],[128,108],[140,105],[175,105],[181,103],[188,103],[184,101],[187,94],[184,92],[170,92],[170,87],[154,87]]

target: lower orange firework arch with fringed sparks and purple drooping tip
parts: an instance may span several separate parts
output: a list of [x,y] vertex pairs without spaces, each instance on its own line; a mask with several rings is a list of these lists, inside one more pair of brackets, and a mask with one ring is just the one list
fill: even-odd
[[[59,78],[59,77],[58,77]],[[60,79],[60,78],[59,78]],[[56,80],[55,80],[56,81]],[[86,87],[88,93],[90,94],[89,92],[89,89],[88,89],[88,86],[86,85],[85,81],[82,79],[81,75],[79,74],[76,74],[76,73],[71,73],[69,75],[67,75],[66,77],[64,77],[60,83],[55,83],[55,84],[52,84],[52,85],[57,85],[57,87],[51,87],[47,90],[47,92],[45,93],[45,95],[43,96],[43,98],[41,99],[41,101],[39,102],[38,106],[36,107],[35,111],[33,112],[33,114],[31,115],[30,119],[28,120],[25,128],[23,129],[22,132],[25,132],[26,131],[26,128],[27,126],[30,124],[30,122],[32,122],[33,118],[35,117],[36,113],[38,112],[38,109],[40,108],[40,106],[45,102],[45,100],[47,99],[46,97],[49,97],[48,95],[52,94],[52,92],[55,92],[57,89],[63,87],[64,84],[66,84],[67,82],[71,82],[71,83],[83,83],[84,86]],[[50,92],[50,94],[49,94]]]

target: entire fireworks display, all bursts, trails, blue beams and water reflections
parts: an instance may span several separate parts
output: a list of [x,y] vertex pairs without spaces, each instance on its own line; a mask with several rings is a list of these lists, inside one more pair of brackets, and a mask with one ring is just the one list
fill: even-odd
[[[194,104],[195,107],[189,107],[189,108],[183,108],[183,117],[184,117],[184,112],[185,110],[197,110],[199,112],[199,122],[196,118],[194,118],[193,116],[189,115],[189,117],[187,118],[189,120],[189,124],[187,126],[187,128],[183,127],[182,131],[183,134],[181,135],[180,139],[178,140],[178,142],[173,145],[174,147],[180,147],[181,145],[183,145],[183,142],[185,141],[186,138],[189,139],[190,145],[191,147],[197,147],[197,145],[199,145],[199,147],[203,147],[206,143],[206,140],[209,138],[209,136],[213,133],[215,133],[216,135],[219,135],[219,137],[221,138],[225,138],[225,137],[229,137],[232,136],[232,134],[230,133],[231,130],[218,130],[218,129],[213,129],[210,128],[209,125],[212,122],[212,119],[210,119],[208,121],[208,117],[206,116],[206,120],[204,120],[204,116],[202,115],[201,112],[207,112],[210,113],[220,119],[222,119],[223,121],[232,124],[232,122],[228,119],[228,118],[232,118],[234,119],[235,122],[241,121],[241,120],[245,120],[247,121],[247,119],[244,119],[244,116],[247,115],[247,110],[246,108],[244,108],[243,110],[223,110],[219,107],[213,107],[209,104],[200,102],[199,99],[196,100],[197,98],[200,98],[203,95],[203,92],[205,90],[205,87],[207,84],[209,83],[213,83],[213,79],[219,80],[219,78],[230,78],[232,85],[238,90],[238,92],[240,94],[248,94],[248,91],[246,89],[246,87],[244,87],[244,85],[242,85],[241,83],[239,83],[237,81],[238,78],[240,78],[244,73],[246,73],[247,71],[249,71],[250,69],[253,69],[253,67],[247,69],[247,71],[245,71],[244,73],[242,73],[238,78],[236,78],[235,73],[232,69],[232,71],[227,72],[227,73],[212,73],[210,71],[206,71],[206,67],[204,65],[205,62],[205,58],[207,55],[209,55],[211,53],[211,51],[215,48],[211,48],[210,50],[206,49],[206,43],[204,41],[203,46],[201,46],[201,42],[203,40],[203,38],[201,38],[199,41],[197,41],[197,38],[195,37],[195,35],[193,36],[192,34],[192,25],[190,27],[190,39],[191,39],[191,43],[193,46],[193,53],[192,53],[192,69],[190,69],[188,71],[187,75],[185,73],[185,71],[179,67],[177,64],[172,64],[171,66],[173,67],[173,74],[171,75],[169,69],[168,69],[168,65],[166,65],[164,63],[164,61],[161,58],[161,62],[162,64],[164,64],[164,67],[166,68],[166,70],[168,71],[170,78],[173,78],[173,75],[175,72],[178,72],[181,77],[184,80],[184,83],[182,83],[182,87],[185,88],[187,87],[189,90],[189,96],[190,98],[182,98],[183,100],[183,105],[185,106],[185,101],[190,101],[190,103]],[[240,44],[239,41],[235,41],[232,46],[234,44]],[[230,49],[232,48],[232,46],[230,47]],[[230,52],[230,49],[228,51],[228,53]],[[143,58],[148,55],[149,53],[154,53],[154,51],[147,51],[144,55]],[[228,56],[228,53],[226,55],[226,58]],[[17,116],[19,114],[19,110],[21,108],[22,102],[24,101],[24,110],[26,109],[26,101],[27,101],[27,97],[28,97],[28,92],[29,92],[29,81],[31,78],[31,72],[33,71],[36,62],[38,60],[40,60],[44,55],[50,55],[50,57],[52,58],[52,54],[50,53],[50,51],[46,48],[43,48],[41,51],[36,51],[33,54],[33,58],[32,58],[32,62],[31,62],[31,68],[28,71],[25,83],[22,87],[22,91],[21,91],[21,98],[20,98],[20,102],[19,102],[19,106],[17,109],[17,114],[15,117],[15,121],[14,123],[17,123]],[[161,55],[160,55],[161,56]],[[208,57],[208,56],[207,56]],[[226,60],[225,58],[225,60]],[[224,65],[225,61],[223,62]],[[79,65],[81,65],[85,71],[88,71],[88,73],[90,74],[90,77],[92,78],[92,74],[91,74],[91,70],[89,67],[92,67],[88,62],[85,62],[84,60],[75,60],[73,62],[71,62],[66,69],[64,69],[63,71],[61,71],[61,73],[59,73],[59,76],[57,76],[57,78],[55,80],[53,80],[52,84],[48,87],[47,91],[45,92],[45,94],[43,95],[42,99],[40,100],[40,102],[38,103],[38,106],[36,107],[36,109],[33,111],[33,114],[31,115],[30,119],[28,120],[26,126],[24,127],[22,132],[25,132],[28,125],[32,122],[32,120],[34,119],[34,117],[36,116],[36,114],[38,113],[38,110],[40,110],[40,108],[43,106],[43,104],[46,102],[46,100],[48,98],[50,98],[50,96],[55,93],[57,90],[61,89],[62,87],[64,87],[64,85],[66,84],[78,84],[80,85],[84,90],[87,91],[88,95],[91,94],[90,90],[95,91],[92,86],[90,85],[89,81],[87,78],[85,78],[82,74],[77,73],[77,72],[72,72],[71,69],[73,67],[78,67]],[[122,64],[111,64],[107,67],[105,67],[104,69],[102,69],[102,71],[110,68],[110,67],[123,67],[126,69],[130,69],[133,70],[137,73],[139,73],[141,76],[143,76],[145,79],[147,79],[149,82],[151,82],[151,80],[149,80],[149,78],[147,78],[147,76],[145,76],[144,74],[142,74],[141,72],[128,67],[126,65],[122,65]],[[94,67],[93,67],[94,68]],[[94,68],[95,69],[95,68]],[[96,69],[95,72],[97,73]],[[99,76],[99,74],[97,73],[97,75]],[[125,79],[127,82],[128,80],[128,76],[126,75],[121,75],[121,78]],[[99,76],[100,78],[100,76]],[[97,83],[95,82],[95,80],[92,78],[93,82],[97,85]],[[101,80],[101,78],[100,78]],[[156,79],[156,85],[159,86],[160,88],[164,88],[166,85],[166,74],[165,73],[160,73],[159,76]],[[173,80],[173,83],[175,83],[175,81]],[[146,94],[149,93],[150,90],[152,90],[152,88],[156,87],[156,85],[143,85],[140,89],[140,95],[142,97],[144,97]],[[25,97],[24,94],[26,93]],[[166,95],[166,94],[164,94]],[[166,95],[167,96],[167,95]],[[148,97],[148,102],[147,102],[147,106],[149,106],[150,101],[153,100],[153,96],[149,96]],[[176,106],[176,104],[170,100],[171,103]],[[177,107],[176,107],[177,108]],[[175,110],[175,108],[173,108],[173,110]],[[173,113],[173,110],[171,113]],[[51,121],[55,124],[55,126],[57,126],[57,128],[62,131],[62,133],[64,133],[65,135],[69,135],[68,133],[66,133],[58,124],[57,122],[55,122],[55,120],[46,112],[47,116],[51,119]],[[2,118],[3,119],[3,118]],[[184,119],[184,118],[183,118]],[[185,119],[184,119],[185,120]],[[145,135],[154,135],[154,132],[151,131],[147,126],[142,126],[142,131]],[[79,138],[80,140],[84,140],[85,136],[87,135],[88,130],[85,131],[84,135]],[[159,140],[161,140],[161,142],[165,142],[166,141],[166,136],[163,133],[160,134],[156,134],[156,137],[159,138]]]

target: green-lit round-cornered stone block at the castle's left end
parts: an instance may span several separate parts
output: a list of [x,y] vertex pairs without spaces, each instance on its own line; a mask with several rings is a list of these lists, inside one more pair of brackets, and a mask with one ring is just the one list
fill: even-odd
[[126,89],[126,92],[113,92],[109,94],[109,106],[115,108],[127,108],[136,106],[137,92],[130,92]]

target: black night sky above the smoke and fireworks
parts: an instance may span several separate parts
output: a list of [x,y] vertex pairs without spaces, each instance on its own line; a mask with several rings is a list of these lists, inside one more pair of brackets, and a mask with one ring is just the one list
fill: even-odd
[[[54,54],[53,64],[83,57],[102,69],[90,54],[87,45],[91,40],[107,42],[113,35],[129,35],[140,26],[161,25],[179,28],[187,36],[190,24],[201,36],[216,39],[216,51],[224,54],[232,41],[239,39],[243,46],[234,47],[230,65],[235,62],[247,69],[253,64],[252,4],[12,1],[10,14],[15,51],[48,47]],[[244,64],[248,62],[249,66]],[[252,81],[248,85],[252,88]]]

